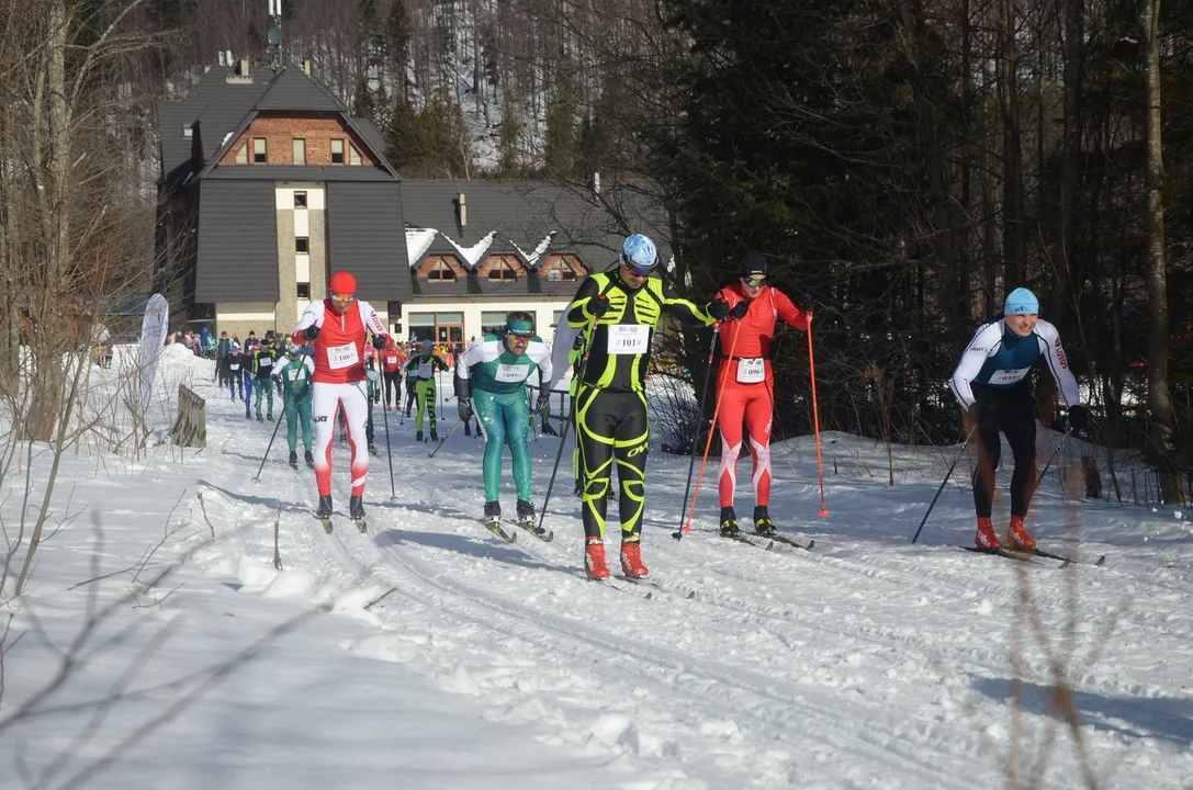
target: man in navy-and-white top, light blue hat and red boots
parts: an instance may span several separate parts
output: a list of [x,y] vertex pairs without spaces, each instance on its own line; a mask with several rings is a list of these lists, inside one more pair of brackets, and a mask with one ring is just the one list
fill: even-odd
[[981,549],[999,549],[1002,543],[990,521],[994,473],[999,468],[1006,434],[1015,471],[1010,476],[1010,530],[1016,548],[1031,549],[1036,541],[1024,529],[1024,517],[1032,496],[1036,474],[1036,401],[1027,377],[1037,359],[1044,357],[1069,407],[1069,427],[1080,431],[1089,416],[1081,406],[1077,379],[1061,346],[1056,327],[1039,319],[1039,301],[1026,288],[1007,296],[1002,313],[981,327],[953,372],[953,395],[965,412],[965,422],[977,434],[978,465],[973,473],[973,506]]

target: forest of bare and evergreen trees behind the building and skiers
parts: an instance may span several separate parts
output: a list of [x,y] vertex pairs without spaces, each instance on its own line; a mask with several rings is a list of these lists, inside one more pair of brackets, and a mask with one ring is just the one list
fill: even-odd
[[[0,0],[0,285],[69,289],[70,251],[152,258],[153,99],[220,53],[310,58],[407,177],[648,185],[693,297],[764,252],[816,307],[822,428],[958,440],[958,354],[1027,286],[1093,406],[1089,438],[1144,453],[1167,501],[1193,485],[1193,1],[282,7],[274,50],[266,0]],[[122,208],[97,222],[97,199]],[[18,265],[42,259],[49,273]],[[700,391],[709,335],[676,342]],[[806,346],[780,337],[780,436],[811,427]],[[1037,396],[1063,426],[1046,372]]]

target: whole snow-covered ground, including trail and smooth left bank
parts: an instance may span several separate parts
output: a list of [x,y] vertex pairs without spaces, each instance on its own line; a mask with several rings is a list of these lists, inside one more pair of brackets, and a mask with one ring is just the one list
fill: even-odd
[[[254,482],[273,426],[246,421],[210,363],[167,350],[161,375],[208,397],[209,446],[64,459],[61,526],[29,593],[0,610],[4,788],[960,789],[1012,773],[1087,786],[1055,672],[1098,786],[1193,788],[1187,514],[1067,504],[1045,486],[1041,545],[1107,557],[1058,569],[954,548],[971,539],[971,499],[950,486],[911,545],[951,450],[896,449],[890,488],[882,446],[835,434],[827,518],[811,439],[774,452],[772,513],[814,551],[717,537],[707,479],[676,542],[687,463],[654,453],[643,557],[661,590],[604,586],[581,575],[567,474],[555,542],[502,544],[474,520],[480,442],[457,431],[428,459],[390,414],[396,498],[379,428],[357,533],[338,445],[327,536],[284,434]],[[531,444],[539,501],[557,442]],[[47,467],[33,463],[33,494]],[[10,541],[24,498],[10,476]]]

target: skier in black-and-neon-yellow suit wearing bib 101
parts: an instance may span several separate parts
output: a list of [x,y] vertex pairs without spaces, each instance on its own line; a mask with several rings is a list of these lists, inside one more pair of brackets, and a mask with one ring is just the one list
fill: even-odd
[[[681,298],[657,277],[655,243],[635,234],[622,246],[617,270],[588,276],[567,313],[589,348],[576,385],[576,436],[585,490],[585,568],[591,579],[608,575],[605,564],[605,513],[610,471],[617,464],[622,485],[622,570],[645,576],[642,563],[642,513],[647,499],[647,363],[655,328],[667,313],[692,323],[712,319]],[[723,317],[723,316],[722,316]]]

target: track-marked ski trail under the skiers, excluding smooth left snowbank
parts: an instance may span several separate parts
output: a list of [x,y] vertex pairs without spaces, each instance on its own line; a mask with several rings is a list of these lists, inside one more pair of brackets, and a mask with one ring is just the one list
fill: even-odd
[[[891,489],[880,480],[829,476],[832,514],[817,519],[815,456],[797,449],[786,461],[801,476],[791,480],[791,467],[777,463],[771,511],[786,537],[815,538],[814,551],[781,543],[764,551],[719,538],[707,476],[693,531],[676,542],[670,533],[687,462],[654,453],[643,530],[654,587],[616,575],[599,584],[582,576],[567,464],[545,519],[555,541],[514,529],[517,543],[505,544],[475,520],[483,499],[476,438],[457,432],[429,461],[433,445],[414,442],[413,419],[398,425],[391,413],[390,499],[385,415],[377,407],[381,457],[370,459],[369,530],[359,533],[346,518],[348,455],[336,444],[335,529],[327,535],[314,518],[313,473],[285,463],[285,426],[252,482],[273,426],[245,421],[241,402],[208,383],[204,363],[193,365],[203,379],[193,388],[208,397],[209,449],[192,474],[217,538],[206,539],[204,526],[180,544],[179,551],[193,551],[190,564],[239,575],[242,593],[286,595],[301,587],[305,592],[293,594],[364,621],[366,634],[344,644],[345,661],[401,664],[444,691],[475,697],[480,718],[533,726],[527,737],[544,748],[574,747],[617,776],[632,773],[616,779],[619,786],[1002,786],[1016,638],[1028,689],[1022,766],[1056,726],[1046,702],[1049,661],[1020,615],[1025,584],[1053,648],[1073,654],[1067,665],[1084,668],[1069,679],[1104,786],[1193,786],[1193,541],[1181,521],[1138,507],[1083,505],[1083,542],[1073,547],[1058,539],[1070,511],[1041,489],[1033,507],[1041,547],[1078,550],[1088,561],[1106,554],[1106,567],[1016,563],[956,548],[971,539],[972,516],[970,494],[953,486],[911,545],[939,479],[904,475]],[[449,399],[444,409],[452,406]],[[883,456],[867,440],[833,436],[854,457]],[[555,442],[531,442],[539,506]],[[931,475],[928,451],[900,455]],[[742,463],[748,469],[749,459]],[[191,523],[203,525],[187,496]],[[737,496],[738,511],[748,512],[748,482]],[[508,514],[508,475],[502,499]],[[611,567],[616,512],[610,502]],[[280,573],[268,564],[274,520]],[[364,609],[361,601],[373,603]],[[1124,601],[1117,629],[1099,644],[1105,618]],[[1098,661],[1086,666],[1095,649]],[[1045,784],[1083,786],[1070,735],[1063,726],[1058,733]]]

